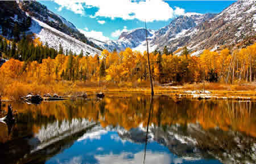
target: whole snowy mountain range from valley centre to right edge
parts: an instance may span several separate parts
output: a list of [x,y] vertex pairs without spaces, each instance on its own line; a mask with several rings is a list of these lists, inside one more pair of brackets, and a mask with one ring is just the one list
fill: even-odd
[[[250,45],[256,40],[255,28],[255,2],[237,1],[220,14],[185,14],[172,20],[166,27],[151,31],[148,36],[150,51],[163,50],[164,46],[170,51],[176,51],[188,46],[191,51],[196,51],[195,54],[200,54],[204,49],[216,50],[222,45],[234,46],[240,42]],[[122,33],[117,41],[92,41],[110,51],[127,47],[146,50],[146,41],[141,37],[142,34],[144,36],[144,30],[126,33]]]

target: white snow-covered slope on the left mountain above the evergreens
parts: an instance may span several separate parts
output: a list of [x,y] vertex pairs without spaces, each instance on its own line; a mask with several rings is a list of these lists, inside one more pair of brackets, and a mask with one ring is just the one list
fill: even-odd
[[84,51],[84,54],[86,52],[90,55],[101,54],[100,50],[86,45],[83,42],[68,36],[68,34],[60,32],[35,18],[32,18],[32,25],[28,32],[35,33],[36,37],[39,37],[44,45],[47,42],[49,47],[54,49],[59,49],[59,45],[61,44],[64,51],[71,49],[76,54],[80,54],[81,50]]

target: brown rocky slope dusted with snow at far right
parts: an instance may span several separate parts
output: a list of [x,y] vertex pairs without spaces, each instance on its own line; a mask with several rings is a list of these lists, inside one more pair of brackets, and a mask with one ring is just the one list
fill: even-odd
[[222,45],[236,45],[255,37],[255,18],[254,1],[237,1],[213,18],[182,31],[180,37],[162,36],[152,44],[158,45],[158,49],[167,45],[172,51],[188,46],[192,51],[198,50],[197,54],[204,49],[216,50]]

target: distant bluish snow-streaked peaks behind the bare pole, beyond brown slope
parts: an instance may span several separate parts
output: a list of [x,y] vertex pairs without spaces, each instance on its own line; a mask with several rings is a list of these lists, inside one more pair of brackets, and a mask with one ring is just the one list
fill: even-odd
[[[169,25],[160,28],[158,31],[149,29],[147,34],[150,51],[154,51],[158,46],[166,45],[166,41],[183,36],[186,31],[213,16],[214,14],[187,14],[172,20]],[[116,41],[101,42],[93,38],[90,40],[94,42],[94,44],[99,45],[102,49],[108,49],[110,51],[114,49],[125,50],[128,47],[139,51],[146,50],[146,30],[144,28],[122,32]]]

